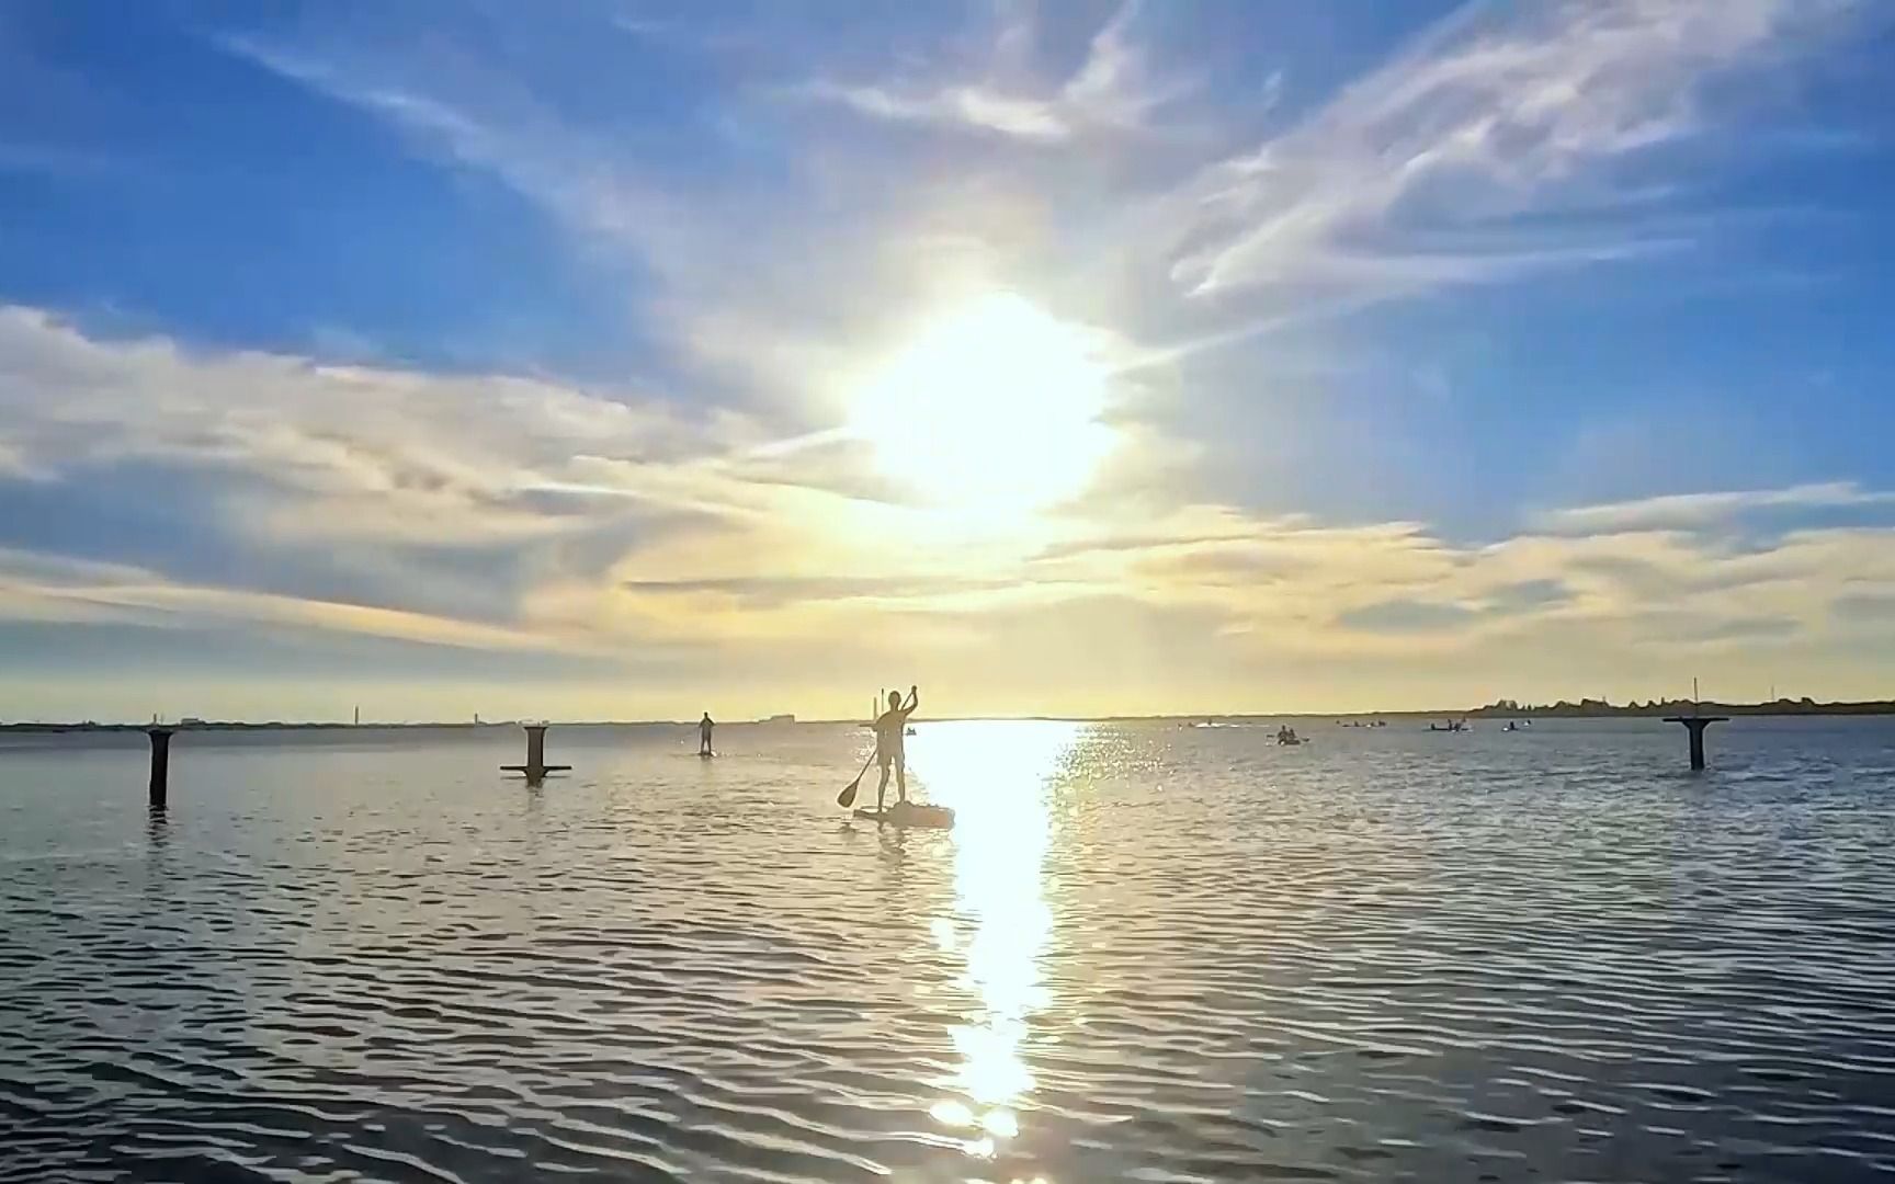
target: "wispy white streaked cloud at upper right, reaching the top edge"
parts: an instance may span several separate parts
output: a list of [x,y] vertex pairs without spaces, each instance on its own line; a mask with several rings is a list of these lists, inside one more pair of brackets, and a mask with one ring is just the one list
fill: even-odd
[[[1302,125],[1184,186],[1165,206],[1186,227],[1173,278],[1213,294],[1363,282],[1338,277],[1355,271],[1400,292],[1514,275],[1546,242],[1497,225],[1584,197],[1615,167],[1704,131],[1711,81],[1821,40],[1853,8],[1471,6]],[[1416,275],[1429,256],[1440,258]]]

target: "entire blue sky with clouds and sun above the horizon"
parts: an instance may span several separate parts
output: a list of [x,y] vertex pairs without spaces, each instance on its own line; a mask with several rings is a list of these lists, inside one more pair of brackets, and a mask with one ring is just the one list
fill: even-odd
[[1895,695],[1891,53],[0,4],[0,718]]

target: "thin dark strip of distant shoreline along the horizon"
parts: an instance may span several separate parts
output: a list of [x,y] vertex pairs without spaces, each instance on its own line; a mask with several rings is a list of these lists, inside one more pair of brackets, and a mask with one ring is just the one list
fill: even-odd
[[[1895,716],[1895,699],[1867,699],[1842,703],[1817,703],[1814,699],[1778,699],[1774,703],[1690,703],[1683,699],[1613,705],[1601,699],[1580,699],[1579,703],[1512,703],[1499,701],[1474,709],[1452,710],[1355,710],[1355,712],[1196,712],[1169,716],[955,716],[961,720],[1061,720],[1071,724],[1190,724],[1198,720],[1217,722],[1264,722],[1264,720],[1643,720],[1666,716]],[[800,720],[802,724],[858,724],[858,720]],[[949,722],[942,716],[936,722]],[[551,727],[694,727],[695,720],[548,720]],[[0,735],[8,733],[68,733],[68,731],[150,731],[165,727],[169,731],[485,731],[495,727],[519,727],[519,720],[470,722],[423,722],[423,724],[298,724],[267,722],[248,724],[239,720],[191,720],[188,724],[95,724],[91,720],[74,724],[0,724]],[[786,727],[788,720],[731,720],[720,727]]]

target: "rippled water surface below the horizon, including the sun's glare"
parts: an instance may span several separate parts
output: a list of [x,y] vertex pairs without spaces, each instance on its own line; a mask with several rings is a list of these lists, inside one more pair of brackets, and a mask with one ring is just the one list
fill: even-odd
[[0,741],[0,1180],[1895,1178],[1895,724],[1304,731]]

